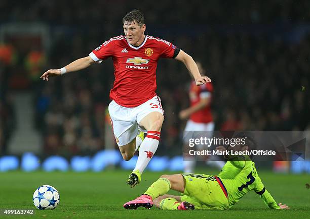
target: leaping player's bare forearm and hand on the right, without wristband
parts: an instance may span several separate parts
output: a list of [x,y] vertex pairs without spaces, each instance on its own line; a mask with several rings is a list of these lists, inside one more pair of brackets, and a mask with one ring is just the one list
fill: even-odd
[[189,56],[189,54],[184,52],[182,49],[180,49],[180,52],[175,59],[184,63],[187,70],[192,74],[193,78],[195,79],[196,85],[203,85],[211,82],[211,79],[209,77],[201,76],[195,61],[191,58],[191,56]]

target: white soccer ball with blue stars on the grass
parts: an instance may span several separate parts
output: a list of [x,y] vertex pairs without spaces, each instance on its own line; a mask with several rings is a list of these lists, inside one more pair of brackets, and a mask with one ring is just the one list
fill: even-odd
[[43,185],[34,191],[32,200],[37,209],[53,210],[59,204],[59,193],[53,186]]

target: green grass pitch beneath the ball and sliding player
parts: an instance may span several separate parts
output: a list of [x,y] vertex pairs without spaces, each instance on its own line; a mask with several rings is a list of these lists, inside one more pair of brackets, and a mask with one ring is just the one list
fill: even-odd
[[[0,209],[34,209],[34,215],[0,214],[1,218],[310,218],[309,175],[285,175],[259,171],[265,187],[276,201],[286,203],[289,210],[269,210],[254,192],[247,194],[234,207],[225,211],[167,211],[153,207],[127,210],[123,203],[142,194],[162,174],[143,174],[141,184],[130,188],[126,180],[130,171],[100,173],[0,173]],[[199,171],[216,174],[217,171]],[[32,203],[34,190],[41,185],[52,185],[60,193],[60,204],[54,210],[36,210]],[[178,194],[172,192],[171,194]]]

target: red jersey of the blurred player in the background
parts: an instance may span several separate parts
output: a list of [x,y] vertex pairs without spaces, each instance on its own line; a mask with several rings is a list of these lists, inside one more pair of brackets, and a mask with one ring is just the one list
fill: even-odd
[[[211,83],[197,86],[195,81],[192,81],[189,89],[190,106],[196,105],[201,98],[211,97],[213,86]],[[211,107],[208,104],[206,107],[190,115],[190,120],[196,123],[209,123],[213,121]]]

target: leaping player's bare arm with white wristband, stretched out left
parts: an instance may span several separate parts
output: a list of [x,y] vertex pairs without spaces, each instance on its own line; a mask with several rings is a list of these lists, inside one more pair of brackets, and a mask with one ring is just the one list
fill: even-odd
[[84,57],[78,60],[73,61],[69,65],[61,68],[61,69],[50,69],[46,71],[40,78],[43,80],[49,80],[49,77],[55,77],[59,75],[63,75],[67,72],[75,72],[89,67],[94,64],[95,61],[90,57]]

